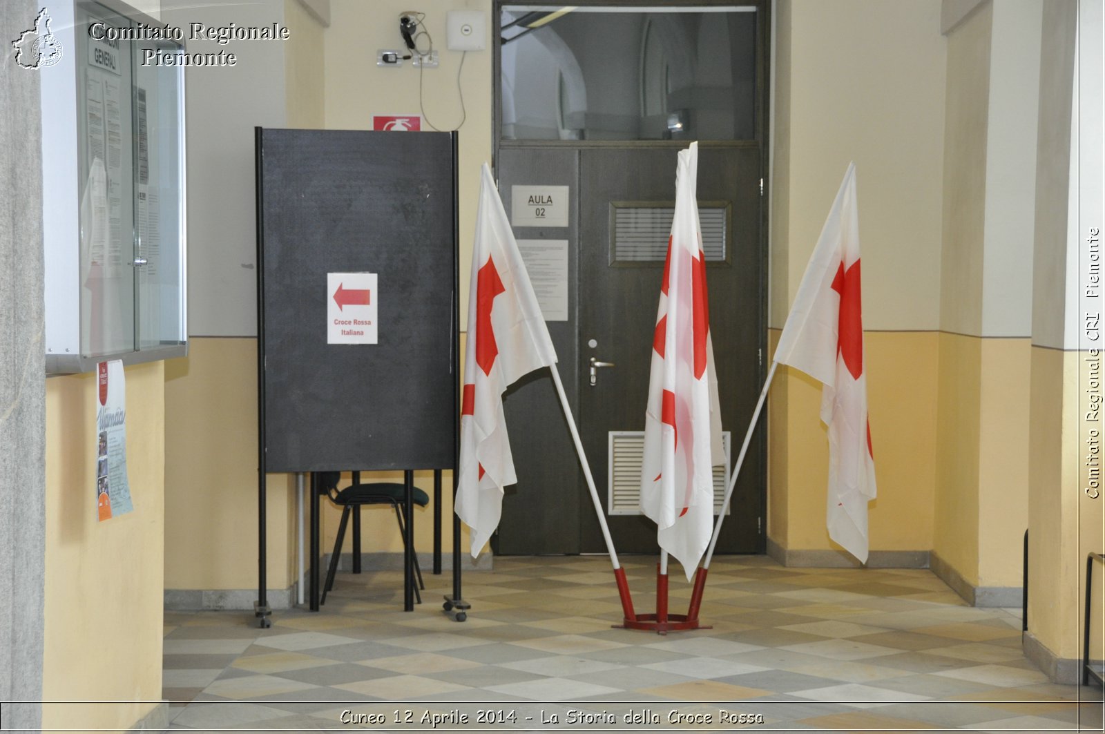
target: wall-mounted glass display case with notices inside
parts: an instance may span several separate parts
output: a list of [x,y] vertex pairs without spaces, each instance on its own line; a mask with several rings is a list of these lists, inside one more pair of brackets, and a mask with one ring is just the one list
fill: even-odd
[[[185,77],[152,19],[51,2],[42,69],[46,371],[187,353]],[[152,53],[151,53],[152,52]]]

